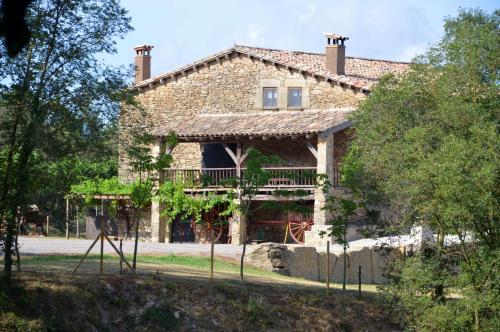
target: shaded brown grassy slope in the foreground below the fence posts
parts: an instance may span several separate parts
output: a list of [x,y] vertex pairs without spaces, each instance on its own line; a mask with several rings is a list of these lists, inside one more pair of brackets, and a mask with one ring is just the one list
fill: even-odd
[[374,295],[150,275],[20,273],[0,331],[397,331]]

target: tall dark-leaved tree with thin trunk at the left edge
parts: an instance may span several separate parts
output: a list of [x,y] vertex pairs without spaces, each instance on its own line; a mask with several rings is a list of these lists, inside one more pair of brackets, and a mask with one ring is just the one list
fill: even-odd
[[8,113],[2,125],[10,128],[0,179],[8,280],[15,214],[33,186],[33,153],[51,138],[46,129],[62,114],[102,120],[118,114],[117,92],[127,76],[103,65],[99,55],[116,52],[114,39],[131,30],[126,14],[117,0],[34,1],[27,12],[29,43],[14,58],[0,54],[0,100]]

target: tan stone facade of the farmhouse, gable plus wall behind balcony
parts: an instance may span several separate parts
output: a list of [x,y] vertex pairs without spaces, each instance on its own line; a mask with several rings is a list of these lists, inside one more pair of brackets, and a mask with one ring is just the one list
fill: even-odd
[[[329,109],[336,107],[356,107],[366,98],[361,90],[341,87],[333,82],[312,76],[307,72],[284,69],[271,63],[258,61],[243,55],[230,54],[225,59],[210,65],[198,66],[175,79],[151,87],[143,87],[136,92],[135,99],[141,109],[123,107],[120,117],[121,142],[138,126],[152,129],[164,121],[182,121],[183,117],[197,114],[260,112],[262,108],[262,88],[275,86],[279,92],[278,106],[272,111],[286,111],[286,91],[289,87],[302,88],[303,109]],[[265,109],[269,111],[270,109]],[[295,109],[296,110],[296,109]],[[346,151],[349,139],[347,130],[334,134],[330,144],[322,152],[323,161],[317,161],[306,146],[306,139],[283,138],[280,140],[250,140],[241,138],[243,149],[253,146],[265,154],[274,154],[285,160],[286,166],[318,166],[318,171],[329,171],[337,166]],[[318,137],[308,140],[318,146]],[[172,152],[175,168],[201,168],[203,146],[201,143],[180,143]],[[328,155],[328,156],[327,156]],[[323,164],[326,162],[326,164]],[[244,166],[244,165],[243,165]],[[320,167],[321,166],[321,167]],[[120,148],[119,176],[131,179],[127,168],[127,158],[123,146]],[[153,215],[158,214],[155,205]],[[319,205],[317,212],[320,212]],[[321,219],[324,224],[325,217]],[[154,225],[163,226],[155,221]],[[239,223],[246,227],[246,221]],[[152,230],[155,240],[163,231]],[[168,230],[167,230],[167,233]],[[233,230],[233,241],[245,232]],[[168,241],[168,239],[167,239]],[[238,241],[239,242],[239,241]]]

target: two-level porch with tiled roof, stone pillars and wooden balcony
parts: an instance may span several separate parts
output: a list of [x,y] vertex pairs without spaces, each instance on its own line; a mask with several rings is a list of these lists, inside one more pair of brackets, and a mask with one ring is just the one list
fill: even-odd
[[[281,161],[279,167],[264,165],[269,180],[259,188],[252,201],[307,202],[313,216],[311,221],[324,225],[326,195],[318,188],[317,177],[326,176],[333,187],[340,187],[338,165],[347,140],[344,129],[351,125],[347,119],[350,111],[200,114],[182,121],[158,123],[153,130],[156,140],[152,154],[171,153],[173,164],[161,172],[161,180],[183,183],[185,192],[192,195],[208,191],[222,193],[234,188],[239,179],[244,179],[251,149],[266,156],[276,156]],[[176,133],[179,144],[166,151],[163,138],[171,132]],[[290,193],[276,195],[277,190]],[[293,194],[298,191],[300,194]],[[244,197],[240,199],[245,200]],[[172,228],[161,217],[160,204],[153,202],[151,211],[153,240],[171,241]],[[274,215],[248,218],[236,212],[231,217],[228,234],[233,244],[251,239],[253,228],[257,240],[267,239],[259,233],[261,228],[270,228],[271,233],[276,233],[274,238],[284,238],[283,230],[278,229],[283,222],[289,224],[290,218]]]

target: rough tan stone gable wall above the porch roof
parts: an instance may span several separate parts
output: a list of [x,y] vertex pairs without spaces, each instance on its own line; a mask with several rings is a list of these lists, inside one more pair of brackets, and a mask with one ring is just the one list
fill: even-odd
[[[123,107],[120,118],[122,137],[132,127],[154,127],[160,121],[179,121],[179,117],[199,113],[258,112],[256,101],[263,80],[276,80],[283,86],[293,84],[303,87],[304,105],[310,109],[356,106],[365,98],[361,92],[342,88],[316,79],[307,74],[279,69],[244,56],[231,56],[219,64],[200,67],[162,85],[155,85],[136,93],[142,111]],[[283,111],[281,108],[276,111]],[[122,141],[122,138],[121,138]],[[339,142],[342,135],[339,135]],[[266,143],[258,145],[265,147]],[[341,150],[339,150],[341,151]],[[306,155],[310,153],[307,153]],[[175,167],[200,167],[201,150],[198,144],[181,144],[174,151]],[[340,156],[338,156],[340,158]],[[309,158],[309,157],[308,157]],[[309,158],[310,159],[310,158]],[[310,160],[308,160],[310,161]],[[301,165],[303,166],[303,165]],[[120,174],[125,174],[126,158],[120,150]]]

